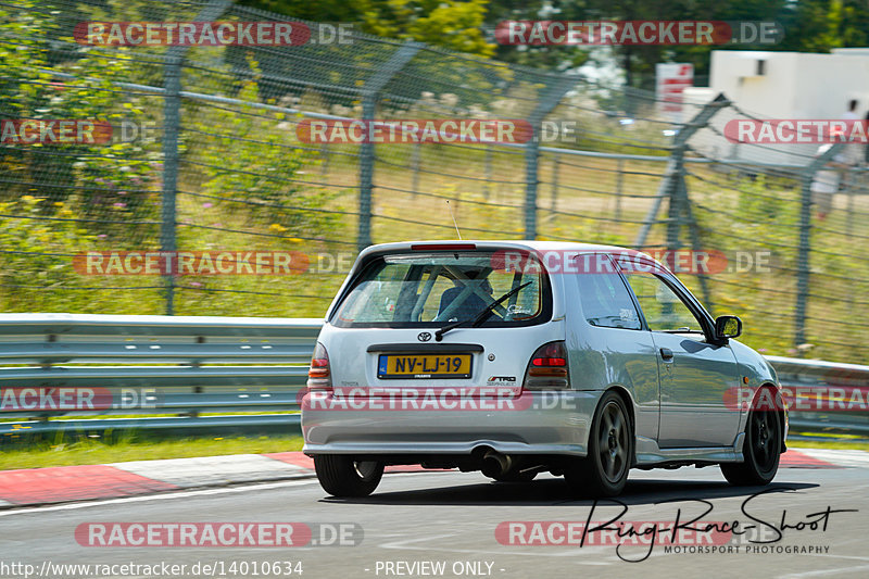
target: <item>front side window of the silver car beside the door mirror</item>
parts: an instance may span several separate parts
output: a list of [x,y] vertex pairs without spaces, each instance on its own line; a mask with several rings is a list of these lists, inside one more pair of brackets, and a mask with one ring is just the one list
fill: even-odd
[[703,326],[682,299],[658,276],[626,272],[652,331],[703,333]]

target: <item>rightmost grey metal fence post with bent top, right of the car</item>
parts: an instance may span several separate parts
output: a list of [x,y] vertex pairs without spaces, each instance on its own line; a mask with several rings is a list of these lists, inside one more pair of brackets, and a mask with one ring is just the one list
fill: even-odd
[[837,142],[816,156],[803,171],[799,196],[799,243],[796,262],[796,304],[794,306],[794,347],[806,341],[806,309],[808,306],[809,254],[811,253],[811,181],[815,174],[829,163],[844,147]]

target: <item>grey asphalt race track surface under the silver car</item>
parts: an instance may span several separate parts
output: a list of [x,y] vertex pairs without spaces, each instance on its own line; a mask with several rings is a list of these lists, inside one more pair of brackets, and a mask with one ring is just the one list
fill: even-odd
[[[751,499],[761,490],[770,492]],[[387,475],[374,495],[361,500],[329,499],[316,480],[308,479],[5,511],[0,513],[1,558],[7,565],[18,562],[21,566],[0,569],[0,577],[25,577],[25,571],[42,577],[83,575],[60,570],[56,566],[62,564],[115,565],[101,571],[88,568],[87,572],[98,574],[91,577],[255,577],[254,570],[263,577],[287,577],[290,568],[293,575],[302,570],[305,578],[344,579],[869,576],[869,470],[865,467],[783,468],[774,483],[764,489],[730,487],[717,468],[634,471],[620,500],[625,507],[609,502],[596,505],[591,520],[606,521],[621,513],[621,524],[672,523],[681,509],[684,521],[708,508],[706,501],[713,511],[701,520],[739,521],[745,534],[731,536],[735,551],[730,553],[696,552],[687,544],[681,553],[667,553],[665,544],[650,549],[648,542],[618,552],[615,544],[502,544],[495,536],[502,521],[584,523],[592,502],[571,499],[563,480],[550,476],[531,483],[494,483],[477,473],[395,474]],[[87,523],[168,521],[304,523],[314,526],[314,543],[335,541],[324,528],[354,524],[361,541],[355,546],[308,542],[292,547],[130,547],[81,546],[75,536],[76,528]],[[752,525],[754,529],[747,529]],[[360,526],[364,537],[358,534]],[[529,533],[532,528],[530,524],[519,527]],[[513,540],[530,537],[522,532]],[[565,534],[553,531],[552,537],[557,541]],[[773,542],[751,543],[761,540]],[[708,547],[709,543],[701,544]],[[279,575],[254,569],[254,564],[266,562],[291,562],[292,566],[277,569]],[[179,575],[136,574],[131,571],[141,568],[121,567],[164,563],[187,567]],[[199,572],[191,571],[196,564]],[[202,565],[213,569],[202,572]]]

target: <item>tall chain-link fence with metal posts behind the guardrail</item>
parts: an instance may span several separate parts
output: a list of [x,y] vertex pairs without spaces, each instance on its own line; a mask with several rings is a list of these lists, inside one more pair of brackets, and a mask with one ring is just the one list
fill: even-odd
[[[319,316],[371,242],[537,238],[711,256],[681,277],[742,316],[750,344],[869,362],[866,174],[811,194],[835,150],[769,160],[774,146],[725,137],[752,115],[723,98],[667,112],[644,91],[343,25],[293,21],[299,46],[83,37],[93,22],[206,21],[289,18],[223,0],[0,4],[4,127],[111,126],[96,143],[4,134],[2,310]],[[534,138],[311,138],[314,121],[342,119],[513,119]],[[142,252],[197,257],[139,275]],[[276,252],[291,275],[248,267]],[[222,253],[239,265],[228,275],[202,259]]]

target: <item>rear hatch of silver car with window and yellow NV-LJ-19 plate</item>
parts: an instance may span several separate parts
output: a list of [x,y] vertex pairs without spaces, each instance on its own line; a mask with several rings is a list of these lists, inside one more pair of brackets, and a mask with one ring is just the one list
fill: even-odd
[[320,335],[337,397],[516,397],[531,354],[564,339],[539,263],[474,243],[364,255]]

